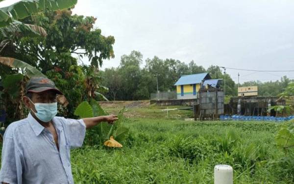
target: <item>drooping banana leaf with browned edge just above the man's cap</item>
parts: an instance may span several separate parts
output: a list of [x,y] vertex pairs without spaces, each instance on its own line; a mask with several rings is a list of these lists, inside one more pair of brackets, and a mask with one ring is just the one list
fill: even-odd
[[46,76],[42,74],[39,70],[37,70],[35,67],[25,63],[24,61],[14,59],[11,57],[0,57],[0,64],[9,66],[11,68],[21,68],[25,70],[25,75],[29,78],[31,77],[44,77]]

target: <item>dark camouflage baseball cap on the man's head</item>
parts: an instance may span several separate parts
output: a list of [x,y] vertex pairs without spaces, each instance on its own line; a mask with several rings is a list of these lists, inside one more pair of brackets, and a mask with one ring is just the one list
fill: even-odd
[[33,92],[33,93],[40,93],[47,90],[53,90],[59,95],[63,95],[59,89],[55,87],[55,84],[52,80],[38,77],[38,78],[31,78],[25,87],[25,91],[27,92]]

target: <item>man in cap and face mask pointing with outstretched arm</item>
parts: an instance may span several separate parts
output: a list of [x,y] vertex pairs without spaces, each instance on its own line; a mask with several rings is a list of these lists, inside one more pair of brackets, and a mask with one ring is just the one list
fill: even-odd
[[46,78],[32,78],[23,98],[27,118],[10,124],[2,147],[0,183],[73,184],[70,149],[81,147],[86,129],[116,115],[80,120],[55,117],[56,95],[62,93]]

